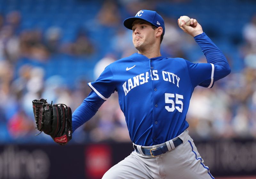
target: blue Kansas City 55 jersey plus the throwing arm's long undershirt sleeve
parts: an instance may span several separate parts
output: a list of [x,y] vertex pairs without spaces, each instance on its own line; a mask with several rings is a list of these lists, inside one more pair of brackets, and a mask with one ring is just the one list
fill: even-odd
[[180,135],[189,126],[186,114],[194,88],[211,88],[230,73],[226,58],[212,41],[204,33],[198,38],[208,63],[162,56],[149,59],[134,53],[110,64],[95,82],[88,83],[102,100],[118,92],[133,143],[151,146]]

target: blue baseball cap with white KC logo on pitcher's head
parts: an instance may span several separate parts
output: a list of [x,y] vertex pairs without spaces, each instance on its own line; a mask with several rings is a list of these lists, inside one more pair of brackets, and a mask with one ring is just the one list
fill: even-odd
[[132,30],[132,23],[138,19],[145,20],[156,27],[162,27],[164,34],[164,19],[156,11],[140,10],[134,17],[125,19],[124,26]]

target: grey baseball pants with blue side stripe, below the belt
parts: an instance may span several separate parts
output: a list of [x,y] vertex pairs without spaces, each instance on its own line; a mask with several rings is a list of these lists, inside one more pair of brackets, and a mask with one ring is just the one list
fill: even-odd
[[[172,140],[143,147],[152,149],[167,144],[170,152],[156,157],[133,151],[124,160],[111,167],[102,179],[214,179],[198,153],[193,139],[185,130],[178,136],[183,144],[176,148]],[[174,138],[176,139],[176,138]],[[141,146],[137,145],[140,151]]]

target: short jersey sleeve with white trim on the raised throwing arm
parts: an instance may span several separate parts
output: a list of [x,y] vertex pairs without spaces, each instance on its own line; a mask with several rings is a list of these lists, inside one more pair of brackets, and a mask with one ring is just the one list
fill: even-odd
[[214,84],[215,66],[211,63],[191,63],[186,60],[188,73],[194,87],[197,85],[212,88]]

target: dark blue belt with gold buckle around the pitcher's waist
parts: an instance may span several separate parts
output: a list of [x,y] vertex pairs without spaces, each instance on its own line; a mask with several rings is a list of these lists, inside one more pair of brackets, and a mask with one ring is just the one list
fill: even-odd
[[[175,147],[179,146],[182,143],[183,143],[183,141],[180,138],[177,138],[173,141],[173,144],[174,144]],[[136,152],[139,153],[139,151],[137,149],[137,146],[133,145],[133,147],[135,148]],[[144,148],[141,147],[141,150],[145,155],[151,155],[153,157],[155,157],[157,155],[161,155],[161,154],[169,151],[168,148],[167,148],[167,145],[163,145],[159,148],[153,148],[153,149],[144,149]]]

